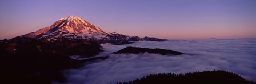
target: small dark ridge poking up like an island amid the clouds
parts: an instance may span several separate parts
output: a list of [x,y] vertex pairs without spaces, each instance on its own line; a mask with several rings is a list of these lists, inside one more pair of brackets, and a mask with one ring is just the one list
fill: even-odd
[[149,49],[149,48],[138,48],[138,47],[126,47],[121,49],[114,54],[124,54],[124,53],[132,53],[132,54],[139,54],[139,53],[153,53],[153,54],[161,54],[161,55],[181,55],[183,53],[173,50],[166,50],[166,49]]

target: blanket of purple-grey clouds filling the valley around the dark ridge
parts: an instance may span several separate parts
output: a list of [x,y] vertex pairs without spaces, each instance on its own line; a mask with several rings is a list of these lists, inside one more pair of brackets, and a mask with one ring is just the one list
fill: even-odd
[[[101,45],[105,51],[98,56],[109,55],[110,58],[63,71],[68,83],[110,84],[132,81],[148,74],[204,70],[231,71],[256,81],[256,39],[139,41],[126,45]],[[185,54],[110,54],[126,46],[171,49]]]

